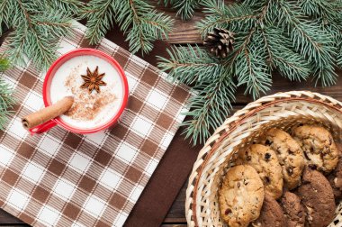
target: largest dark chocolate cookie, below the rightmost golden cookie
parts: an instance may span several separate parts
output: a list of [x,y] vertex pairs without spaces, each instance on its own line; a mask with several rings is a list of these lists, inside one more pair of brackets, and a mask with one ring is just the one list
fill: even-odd
[[335,216],[334,194],[329,181],[319,171],[304,168],[302,186],[298,195],[306,209],[308,226],[323,227],[329,225]]

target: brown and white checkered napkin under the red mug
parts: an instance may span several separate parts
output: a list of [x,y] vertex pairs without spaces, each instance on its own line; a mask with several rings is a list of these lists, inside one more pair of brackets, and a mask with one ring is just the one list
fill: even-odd
[[[76,23],[61,41],[60,54],[87,46]],[[6,48],[6,42],[0,52]],[[45,74],[31,64],[3,77],[15,87],[19,104],[0,132],[0,206],[35,226],[121,226],[184,120],[185,86],[108,40],[96,47],[124,68],[129,104],[111,130],[89,135],[55,127],[31,136],[21,118],[43,106]]]

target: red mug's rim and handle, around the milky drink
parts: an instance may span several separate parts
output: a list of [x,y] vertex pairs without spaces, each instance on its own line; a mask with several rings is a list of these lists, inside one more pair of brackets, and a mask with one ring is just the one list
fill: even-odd
[[94,49],[76,49],[76,50],[71,50],[67,52],[66,54],[60,56],[49,68],[45,79],[44,79],[44,84],[43,84],[43,89],[42,89],[42,96],[44,100],[44,105],[45,107],[49,106],[51,104],[50,101],[50,96],[49,96],[49,87],[52,81],[52,77],[56,73],[57,69],[65,63],[68,59],[75,58],[77,56],[83,56],[83,55],[93,55],[95,57],[101,58],[109,62],[113,68],[115,68],[121,77],[121,82],[122,82],[122,100],[121,104],[119,107],[119,111],[117,114],[115,114],[110,121],[107,121],[97,127],[94,127],[92,129],[81,129],[81,128],[76,128],[74,126],[68,125],[66,122],[64,122],[60,117],[56,117],[54,119],[49,120],[46,123],[42,123],[32,129],[30,129],[30,132],[33,133],[42,133],[42,132],[47,132],[50,128],[59,125],[65,130],[69,132],[76,132],[80,134],[87,134],[87,133],[94,133],[94,132],[99,132],[102,130],[105,130],[109,127],[111,127],[113,124],[117,123],[119,120],[119,117],[123,113],[126,104],[128,102],[128,96],[129,96],[129,86],[127,83],[127,77],[124,74],[123,69],[119,65],[119,63],[113,59],[110,55],[104,53],[103,51],[100,50],[94,50]]

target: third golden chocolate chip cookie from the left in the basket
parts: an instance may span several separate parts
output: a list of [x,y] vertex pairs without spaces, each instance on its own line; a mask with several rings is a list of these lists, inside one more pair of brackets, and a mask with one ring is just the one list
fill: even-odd
[[289,133],[275,128],[266,132],[261,141],[275,150],[282,166],[284,185],[289,190],[299,186],[305,161],[302,148],[298,142]]

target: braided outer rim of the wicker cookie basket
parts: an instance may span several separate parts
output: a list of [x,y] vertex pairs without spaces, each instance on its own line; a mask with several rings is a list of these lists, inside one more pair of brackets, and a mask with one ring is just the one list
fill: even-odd
[[[188,224],[190,224],[190,222],[194,222],[194,226],[196,227],[199,226],[197,216],[196,216],[196,213],[197,213],[196,212],[196,209],[197,209],[196,197],[197,197],[197,189],[199,186],[199,181],[202,176],[203,168],[205,168],[212,154],[220,147],[221,141],[227,138],[231,132],[234,132],[238,128],[238,125],[240,123],[244,123],[244,121],[246,121],[249,117],[253,116],[254,114],[257,114],[258,112],[275,104],[301,102],[301,101],[311,103],[311,104],[321,104],[342,114],[342,103],[328,95],[321,95],[319,93],[314,93],[311,91],[290,91],[290,92],[284,92],[284,93],[276,93],[274,95],[264,96],[250,104],[247,104],[243,109],[239,110],[238,112],[230,116],[226,120],[226,122],[222,124],[223,126],[228,122],[230,118],[235,118],[238,116],[237,120],[233,122],[229,122],[225,126],[225,128],[228,128],[229,126],[228,131],[225,131],[222,134],[220,134],[221,131],[215,131],[211,135],[211,137],[207,140],[207,142],[202,148],[202,150],[207,150],[207,151],[204,151],[204,153],[202,153],[202,150],[201,150],[199,152],[199,155],[195,163],[193,164],[193,171],[190,175],[190,178],[193,176],[193,174],[196,174],[197,176],[193,178],[193,181],[189,180],[188,187],[186,190],[185,213],[191,212],[190,215],[186,215]],[[206,154],[204,159],[202,159],[203,154]],[[196,165],[199,161],[201,161],[201,164]],[[190,193],[188,193],[189,190],[193,191],[193,195],[189,196],[190,195]],[[186,206],[190,198],[194,198],[193,203],[189,206]]]

